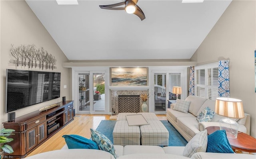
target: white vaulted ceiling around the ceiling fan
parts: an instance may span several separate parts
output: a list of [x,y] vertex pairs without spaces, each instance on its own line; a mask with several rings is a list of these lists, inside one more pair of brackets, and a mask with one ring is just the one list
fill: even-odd
[[99,5],[122,0],[26,0],[69,60],[190,59],[231,0],[139,0],[146,19]]

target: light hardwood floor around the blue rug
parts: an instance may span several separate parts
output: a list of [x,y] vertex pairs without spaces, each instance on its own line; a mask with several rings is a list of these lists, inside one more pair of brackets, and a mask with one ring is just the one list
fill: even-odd
[[[90,128],[96,129],[100,124],[101,120],[110,120],[110,115],[76,115],[74,120],[65,126],[62,130],[50,137],[42,145],[36,148],[28,156],[35,155],[38,153],[61,149],[66,143],[62,135],[77,134],[86,138],[91,137]],[[166,115],[157,115],[159,120],[166,120]]]

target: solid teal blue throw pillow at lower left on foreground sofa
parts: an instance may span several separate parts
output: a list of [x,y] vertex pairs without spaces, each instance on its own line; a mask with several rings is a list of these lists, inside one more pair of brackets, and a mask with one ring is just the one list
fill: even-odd
[[79,135],[63,135],[68,149],[99,149],[96,142]]

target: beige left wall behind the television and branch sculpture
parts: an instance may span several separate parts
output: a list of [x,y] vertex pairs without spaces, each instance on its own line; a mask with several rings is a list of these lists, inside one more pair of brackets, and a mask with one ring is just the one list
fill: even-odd
[[[1,0],[0,15],[0,123],[7,121],[7,114],[5,113],[6,69],[52,71],[61,73],[60,98],[17,110],[15,111],[16,117],[34,110],[39,110],[44,106],[60,102],[62,96],[66,96],[66,100],[72,100],[70,85],[71,69],[62,67],[62,63],[67,62],[68,59],[52,39],[48,31],[42,26],[38,18],[36,18],[26,2],[24,0]],[[42,70],[39,68],[29,69],[28,67],[22,66],[16,67],[9,63],[9,60],[11,59],[11,44],[14,44],[14,46],[34,44],[36,47],[44,47],[48,53],[52,54],[57,59],[57,69]],[[67,85],[67,88],[64,89],[64,85]],[[0,127],[3,127],[2,124],[0,124]]]

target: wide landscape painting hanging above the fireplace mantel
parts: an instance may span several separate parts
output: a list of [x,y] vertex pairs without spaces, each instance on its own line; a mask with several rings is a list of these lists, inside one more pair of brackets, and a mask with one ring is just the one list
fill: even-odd
[[148,68],[113,67],[110,68],[112,86],[147,86]]

